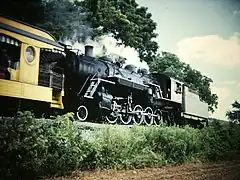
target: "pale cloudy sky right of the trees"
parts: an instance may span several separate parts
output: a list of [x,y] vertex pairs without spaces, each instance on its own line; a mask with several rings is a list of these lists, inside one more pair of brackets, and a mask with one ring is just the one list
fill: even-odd
[[160,50],[212,78],[219,96],[214,117],[240,100],[240,0],[137,0],[158,24]]

